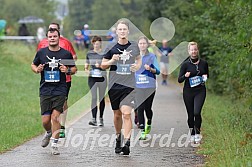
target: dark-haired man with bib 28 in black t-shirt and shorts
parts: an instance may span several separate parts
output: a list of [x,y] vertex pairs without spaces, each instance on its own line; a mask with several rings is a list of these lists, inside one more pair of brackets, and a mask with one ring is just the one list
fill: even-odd
[[42,123],[46,130],[41,146],[46,147],[52,137],[52,154],[58,155],[60,153],[57,143],[61,127],[59,116],[63,112],[67,95],[66,74],[74,74],[77,68],[72,54],[59,46],[60,32],[49,29],[47,38],[49,46],[36,53],[31,68],[34,73],[41,74],[40,106]]

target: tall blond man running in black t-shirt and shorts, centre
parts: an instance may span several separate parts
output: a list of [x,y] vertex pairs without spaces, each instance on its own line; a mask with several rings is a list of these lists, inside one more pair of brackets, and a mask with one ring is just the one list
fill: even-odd
[[[115,153],[130,153],[132,129],[131,112],[135,106],[135,72],[141,67],[141,56],[137,43],[128,40],[129,24],[119,20],[116,26],[118,42],[108,47],[102,61],[102,68],[110,68],[109,98],[114,111],[116,130]],[[121,129],[124,123],[124,147],[121,147]]]

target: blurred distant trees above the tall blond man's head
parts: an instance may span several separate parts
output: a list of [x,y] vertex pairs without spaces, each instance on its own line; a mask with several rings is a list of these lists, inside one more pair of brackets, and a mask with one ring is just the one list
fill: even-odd
[[67,36],[89,24],[90,29],[108,30],[118,19],[127,18],[141,31],[149,33],[149,20],[142,0],[69,0],[69,16],[65,19]]

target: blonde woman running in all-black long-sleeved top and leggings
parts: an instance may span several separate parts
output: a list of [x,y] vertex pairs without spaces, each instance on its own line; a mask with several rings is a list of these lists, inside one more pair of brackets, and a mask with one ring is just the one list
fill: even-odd
[[189,58],[180,68],[178,82],[184,82],[183,99],[188,115],[188,126],[191,130],[191,142],[199,143],[202,136],[201,109],[206,98],[206,80],[209,77],[208,64],[199,57],[199,48],[196,42],[188,44]]

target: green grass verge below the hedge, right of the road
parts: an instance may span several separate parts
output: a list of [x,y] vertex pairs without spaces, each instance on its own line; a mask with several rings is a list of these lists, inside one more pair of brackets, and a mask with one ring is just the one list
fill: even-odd
[[208,167],[252,166],[252,111],[240,101],[207,95],[203,109],[203,144]]

